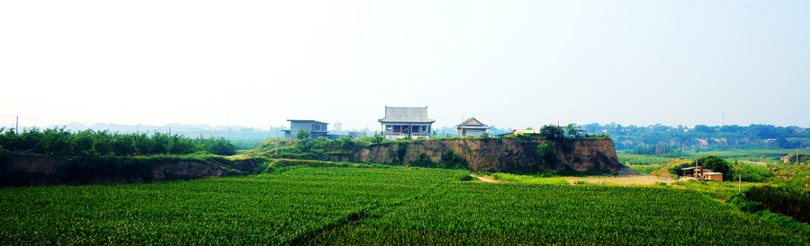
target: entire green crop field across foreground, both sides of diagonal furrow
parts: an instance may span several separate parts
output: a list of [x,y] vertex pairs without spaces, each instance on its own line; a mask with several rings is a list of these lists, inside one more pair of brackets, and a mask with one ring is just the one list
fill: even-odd
[[806,236],[687,189],[289,168],[155,184],[0,189],[0,244],[727,244]]

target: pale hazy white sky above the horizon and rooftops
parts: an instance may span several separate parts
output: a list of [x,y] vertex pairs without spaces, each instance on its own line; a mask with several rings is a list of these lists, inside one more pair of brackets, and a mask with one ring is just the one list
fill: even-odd
[[[0,126],[810,127],[810,1],[3,1]],[[48,119],[48,120],[43,120]]]

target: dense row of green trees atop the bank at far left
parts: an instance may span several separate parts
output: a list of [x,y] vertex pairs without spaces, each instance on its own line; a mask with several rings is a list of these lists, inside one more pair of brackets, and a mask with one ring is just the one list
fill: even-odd
[[0,148],[7,151],[27,151],[37,154],[116,155],[147,154],[236,154],[237,146],[224,137],[189,138],[164,133],[111,133],[109,130],[70,131],[53,127],[43,131],[32,127],[17,134],[14,129],[0,127]]

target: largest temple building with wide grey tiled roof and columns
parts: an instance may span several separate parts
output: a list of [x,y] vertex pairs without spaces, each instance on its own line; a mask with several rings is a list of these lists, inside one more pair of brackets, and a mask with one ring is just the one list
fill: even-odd
[[388,107],[385,118],[378,119],[383,127],[383,137],[404,136],[428,137],[433,131],[434,119],[428,119],[428,107]]

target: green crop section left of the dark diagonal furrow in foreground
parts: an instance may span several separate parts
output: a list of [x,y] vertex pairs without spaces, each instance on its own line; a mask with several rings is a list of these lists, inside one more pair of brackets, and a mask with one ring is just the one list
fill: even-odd
[[299,168],[157,184],[0,189],[0,244],[287,244],[463,171]]

